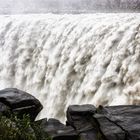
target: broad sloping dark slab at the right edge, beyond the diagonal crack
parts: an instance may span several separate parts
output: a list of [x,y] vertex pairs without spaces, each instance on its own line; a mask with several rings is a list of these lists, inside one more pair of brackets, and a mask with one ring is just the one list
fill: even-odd
[[125,140],[140,140],[140,106],[100,107],[98,112],[125,132]]

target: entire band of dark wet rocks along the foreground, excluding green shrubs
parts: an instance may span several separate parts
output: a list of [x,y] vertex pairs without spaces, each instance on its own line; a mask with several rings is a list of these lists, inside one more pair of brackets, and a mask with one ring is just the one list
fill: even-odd
[[36,140],[140,140],[138,105],[99,108],[89,104],[71,105],[66,112],[66,124],[53,118],[35,121],[42,108],[35,97],[24,91],[14,88],[0,91],[1,115],[9,111],[15,112],[18,118],[29,115],[32,123],[46,134],[45,138],[40,136]]

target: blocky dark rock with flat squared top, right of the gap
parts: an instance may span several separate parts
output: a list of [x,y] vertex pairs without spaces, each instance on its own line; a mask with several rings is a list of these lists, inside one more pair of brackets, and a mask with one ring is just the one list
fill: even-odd
[[67,124],[73,126],[81,140],[104,140],[99,125],[93,118],[93,105],[72,105],[67,110]]

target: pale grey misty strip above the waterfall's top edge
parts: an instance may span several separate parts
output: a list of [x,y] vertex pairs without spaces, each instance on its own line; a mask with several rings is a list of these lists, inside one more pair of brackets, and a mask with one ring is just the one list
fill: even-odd
[[139,12],[140,0],[0,0],[0,14]]

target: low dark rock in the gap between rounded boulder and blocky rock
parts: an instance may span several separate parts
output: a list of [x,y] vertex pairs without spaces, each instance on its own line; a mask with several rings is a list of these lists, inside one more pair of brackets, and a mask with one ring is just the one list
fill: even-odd
[[56,119],[43,119],[40,122],[41,129],[52,140],[78,140],[78,134],[71,126],[65,126]]

